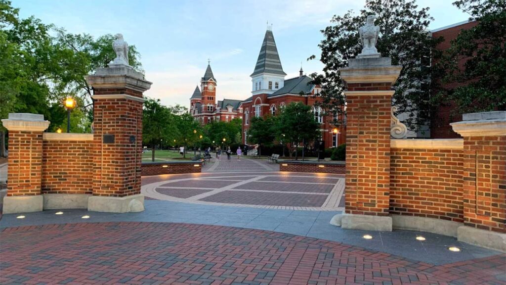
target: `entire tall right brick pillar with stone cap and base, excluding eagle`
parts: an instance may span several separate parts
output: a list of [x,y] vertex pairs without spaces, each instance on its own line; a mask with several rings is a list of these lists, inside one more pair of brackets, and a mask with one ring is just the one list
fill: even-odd
[[343,228],[392,230],[390,112],[400,70],[388,57],[350,59],[341,69],[348,87]]

